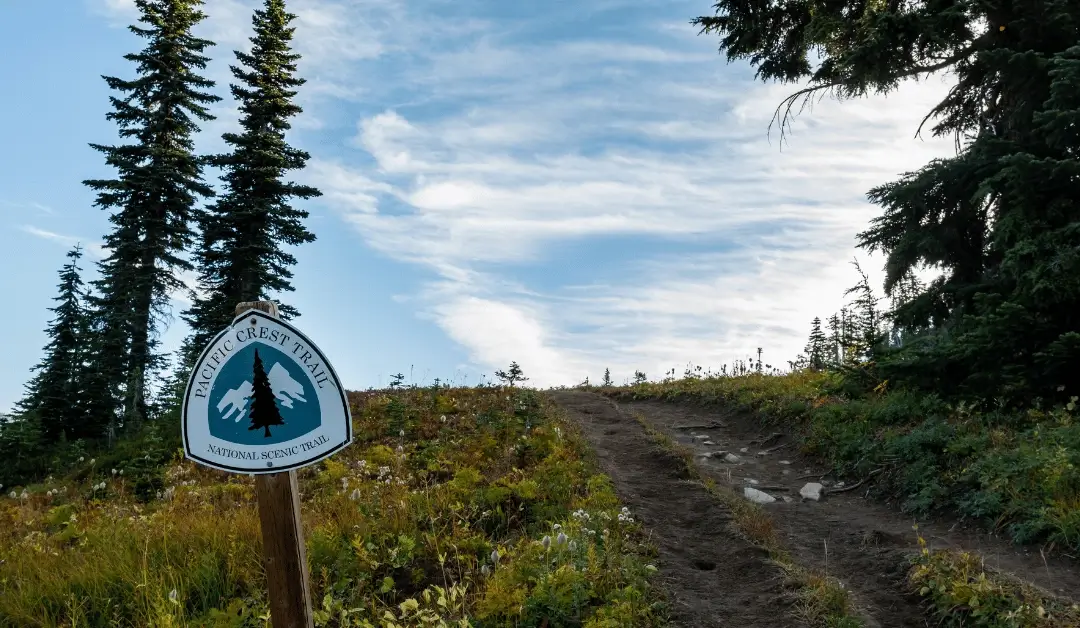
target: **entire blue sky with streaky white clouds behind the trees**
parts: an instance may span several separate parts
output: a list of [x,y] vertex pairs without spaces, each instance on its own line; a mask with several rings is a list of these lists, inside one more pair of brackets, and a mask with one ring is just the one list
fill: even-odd
[[[206,76],[225,97],[197,137],[237,129],[233,50],[258,0],[207,0]],[[308,80],[288,141],[314,243],[294,250],[295,321],[347,387],[476,384],[517,361],[529,384],[658,379],[762,349],[785,365],[880,256],[855,236],[874,186],[954,153],[916,137],[944,77],[888,96],[826,97],[785,141],[770,119],[798,84],[755,80],[690,21],[708,0],[292,0]],[[82,181],[113,172],[102,76],[123,55],[132,0],[8,2],[0,21],[0,411],[46,343],[65,253],[95,276],[106,212]],[[76,52],[72,52],[76,51]],[[217,173],[207,171],[216,183]],[[175,350],[187,330],[163,331]]]

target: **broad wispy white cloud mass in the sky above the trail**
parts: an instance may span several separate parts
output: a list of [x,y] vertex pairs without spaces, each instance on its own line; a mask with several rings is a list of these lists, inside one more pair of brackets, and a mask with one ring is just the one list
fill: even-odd
[[[426,311],[483,368],[517,360],[549,385],[609,366],[621,380],[757,347],[784,365],[810,319],[841,305],[858,278],[853,256],[880,284],[880,259],[854,249],[879,212],[865,193],[949,152],[947,141],[913,138],[944,86],[822,101],[781,149],[767,129],[797,86],[718,74],[715,51],[698,64],[701,43],[570,42],[540,58],[480,38],[418,70],[446,112],[363,118],[354,144],[375,168],[321,160],[315,171],[334,178],[320,185],[328,198],[361,190],[341,203],[357,232],[443,278],[423,295]],[[576,76],[555,70],[564,65]],[[453,106],[481,95],[483,105]],[[727,242],[643,257],[596,285],[517,285],[492,270],[542,265],[554,242],[612,235]]]

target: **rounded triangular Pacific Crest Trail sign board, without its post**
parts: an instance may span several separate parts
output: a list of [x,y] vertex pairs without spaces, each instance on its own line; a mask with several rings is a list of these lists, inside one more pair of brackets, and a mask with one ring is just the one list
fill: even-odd
[[195,462],[276,473],[348,445],[352,419],[345,389],[319,347],[287,322],[252,308],[195,363],[184,392],[183,432],[184,453]]

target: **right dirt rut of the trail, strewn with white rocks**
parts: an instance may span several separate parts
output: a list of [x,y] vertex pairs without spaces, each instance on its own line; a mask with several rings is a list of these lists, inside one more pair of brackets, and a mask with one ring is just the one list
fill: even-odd
[[[766,508],[796,559],[819,571],[827,570],[829,575],[839,578],[881,626],[932,625],[918,600],[907,593],[903,582],[905,558],[918,550],[913,518],[888,505],[865,499],[860,489],[826,494],[820,502],[801,499],[799,489],[807,482],[818,481],[823,470],[801,458],[786,436],[774,435],[772,430],[762,432],[752,416],[683,403],[618,405],[624,413],[643,414],[653,428],[696,453],[710,454],[697,460],[717,481],[730,483],[740,491],[754,485],[774,496],[778,500]],[[762,451],[767,453],[759,454]],[[715,455],[716,452],[730,452],[739,459],[728,463],[721,455]],[[843,487],[839,484],[828,486],[831,490]],[[958,530],[948,522],[920,520],[917,523],[931,547],[977,551],[987,565],[1062,598],[1075,600],[1080,593],[1080,570],[1067,559],[1048,560],[1037,548],[1018,548],[991,535]]]

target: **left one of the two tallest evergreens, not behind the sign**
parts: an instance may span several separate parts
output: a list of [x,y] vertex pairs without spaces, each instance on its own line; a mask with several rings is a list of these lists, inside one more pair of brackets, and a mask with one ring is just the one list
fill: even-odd
[[110,397],[122,392],[125,427],[137,429],[146,416],[147,382],[160,365],[157,333],[167,316],[170,295],[183,288],[179,272],[190,270],[184,252],[192,243],[192,222],[200,197],[213,196],[194,155],[197,120],[208,121],[206,106],[219,101],[207,92],[213,82],[198,71],[213,42],[191,35],[205,14],[202,0],[135,0],[144,27],[132,32],[147,40],[125,59],[137,78],[105,77],[120,96],[110,98],[106,117],[129,144],[92,144],[117,169],[117,178],[84,182],[97,191],[96,205],[113,211],[114,230],[105,237],[108,256],[100,263],[99,362]]

